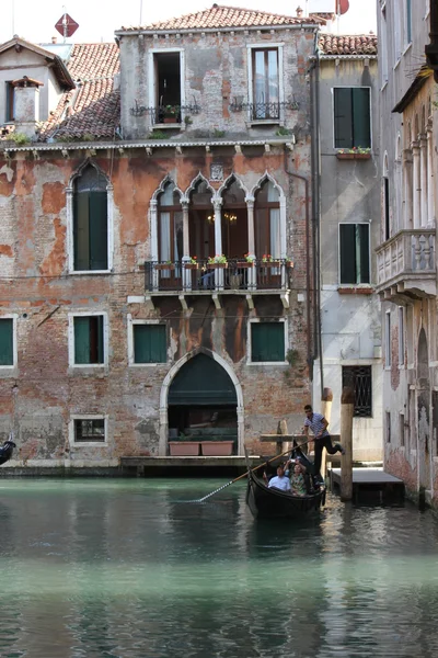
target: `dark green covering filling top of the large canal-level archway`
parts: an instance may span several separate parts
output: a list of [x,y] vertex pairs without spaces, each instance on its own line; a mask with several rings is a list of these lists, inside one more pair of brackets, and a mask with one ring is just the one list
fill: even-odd
[[235,386],[229,374],[214,359],[197,354],[175,375],[168,405],[238,405]]

